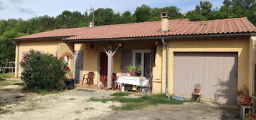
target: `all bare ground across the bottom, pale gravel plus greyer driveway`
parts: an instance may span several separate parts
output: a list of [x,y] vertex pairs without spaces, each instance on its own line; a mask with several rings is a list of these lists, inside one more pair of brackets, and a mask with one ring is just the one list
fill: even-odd
[[237,119],[237,109],[216,104],[185,103],[150,106],[137,111],[113,111],[107,103],[87,101],[91,97],[110,97],[112,91],[75,89],[58,94],[39,95],[23,92],[19,86],[0,89],[1,120],[84,120],[84,119]]

